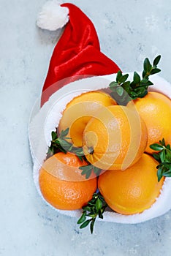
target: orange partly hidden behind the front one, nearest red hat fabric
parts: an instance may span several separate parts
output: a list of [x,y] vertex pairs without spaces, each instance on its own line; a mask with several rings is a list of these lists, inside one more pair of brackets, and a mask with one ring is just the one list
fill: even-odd
[[102,91],[88,91],[75,97],[66,105],[63,116],[58,125],[58,132],[69,128],[67,137],[72,138],[72,143],[82,146],[83,130],[86,124],[95,116],[103,106],[116,105],[115,100]]

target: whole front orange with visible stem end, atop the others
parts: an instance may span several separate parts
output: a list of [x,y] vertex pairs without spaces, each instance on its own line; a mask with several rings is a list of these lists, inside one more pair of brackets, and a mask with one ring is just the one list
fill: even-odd
[[113,105],[91,118],[83,132],[83,151],[92,165],[123,170],[137,162],[147,143],[147,129],[137,111]]

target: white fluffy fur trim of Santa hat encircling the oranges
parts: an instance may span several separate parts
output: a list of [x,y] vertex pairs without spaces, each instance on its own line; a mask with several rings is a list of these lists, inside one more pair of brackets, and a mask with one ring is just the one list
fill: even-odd
[[[72,84],[68,84],[54,93],[50,99],[42,106],[41,109],[36,109],[31,115],[31,121],[29,124],[29,142],[31,147],[31,155],[34,162],[34,182],[36,184],[39,195],[42,197],[42,193],[39,189],[39,169],[44,162],[48,145],[50,145],[51,132],[56,130],[58,122],[61,118],[61,113],[66,108],[67,102],[72,100],[73,97],[82,94],[86,91],[94,91],[96,89],[107,88],[109,83],[115,80],[115,74],[104,75],[93,78],[86,78],[83,80],[77,80]],[[132,79],[133,73],[129,73]],[[167,97],[171,98],[171,86],[159,75],[153,75],[151,81],[155,86],[150,86],[150,91],[159,91]],[[72,89],[72,91],[71,91]],[[38,102],[39,103],[39,102]],[[39,105],[39,104],[37,104]],[[153,219],[165,214],[171,209],[171,178],[166,178],[164,185],[161,189],[161,195],[153,203],[151,208],[143,211],[141,214],[122,215],[117,214],[114,211],[105,211],[105,222],[118,222],[118,223],[139,223],[145,222],[148,219]],[[42,197],[43,200],[45,200]],[[45,201],[46,202],[46,201]],[[46,202],[47,203],[47,202]],[[51,206],[53,207],[53,206]],[[54,208],[61,214],[65,214],[71,217],[80,217],[81,210],[77,211],[61,211]],[[102,219],[97,219],[102,220]]]

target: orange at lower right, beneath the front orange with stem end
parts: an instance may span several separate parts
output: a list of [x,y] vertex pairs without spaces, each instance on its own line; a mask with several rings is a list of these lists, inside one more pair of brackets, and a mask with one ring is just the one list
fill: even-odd
[[158,182],[153,157],[143,154],[126,170],[107,170],[99,176],[99,191],[108,206],[120,214],[137,214],[150,208],[160,194],[164,178]]

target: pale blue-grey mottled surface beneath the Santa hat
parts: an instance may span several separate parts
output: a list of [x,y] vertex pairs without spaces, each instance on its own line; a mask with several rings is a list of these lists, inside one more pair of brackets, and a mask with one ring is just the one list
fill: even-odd
[[[123,72],[161,54],[171,82],[170,0],[75,0],[94,22],[102,51]],[[28,120],[61,31],[35,26],[44,0],[0,2],[0,255],[170,256],[171,213],[139,225],[97,222],[94,235],[56,214],[37,194],[28,148]]]

